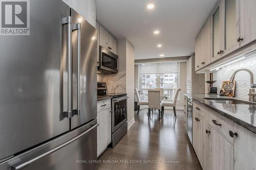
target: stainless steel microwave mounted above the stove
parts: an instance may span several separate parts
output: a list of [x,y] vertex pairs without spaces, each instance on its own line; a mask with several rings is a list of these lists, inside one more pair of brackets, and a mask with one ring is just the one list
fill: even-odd
[[118,72],[118,56],[103,46],[99,46],[98,72],[116,74]]

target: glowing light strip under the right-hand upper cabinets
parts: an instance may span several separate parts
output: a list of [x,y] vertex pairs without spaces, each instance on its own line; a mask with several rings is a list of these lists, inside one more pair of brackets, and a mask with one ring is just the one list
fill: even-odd
[[230,59],[230,60],[228,60],[224,63],[221,63],[221,64],[218,64],[214,67],[211,67],[209,70],[210,71],[218,71],[218,70],[221,70],[222,67],[225,67],[227,65],[242,61],[242,60],[247,59],[247,58],[255,57],[255,56],[256,56],[256,49],[251,50],[249,52],[246,52],[242,55],[239,55],[236,58]]

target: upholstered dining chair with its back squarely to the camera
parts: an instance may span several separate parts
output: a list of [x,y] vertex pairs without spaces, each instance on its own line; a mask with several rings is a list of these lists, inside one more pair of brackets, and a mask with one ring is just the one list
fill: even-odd
[[158,109],[159,116],[158,120],[160,121],[160,116],[162,116],[162,102],[160,97],[159,89],[148,89],[148,119],[150,119],[151,109]]

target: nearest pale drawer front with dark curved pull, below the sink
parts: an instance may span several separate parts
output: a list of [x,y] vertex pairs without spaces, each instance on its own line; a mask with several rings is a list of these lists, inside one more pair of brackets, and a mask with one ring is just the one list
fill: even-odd
[[229,136],[229,131],[234,131],[234,123],[230,119],[220,115],[213,110],[210,110],[209,124],[233,145],[234,138]]

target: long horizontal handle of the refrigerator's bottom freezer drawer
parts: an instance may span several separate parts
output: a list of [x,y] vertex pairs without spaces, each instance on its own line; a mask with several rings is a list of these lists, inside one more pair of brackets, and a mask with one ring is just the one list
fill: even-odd
[[46,152],[46,153],[44,153],[44,154],[42,154],[42,155],[39,155],[39,156],[37,156],[37,157],[35,157],[35,158],[29,160],[29,161],[26,161],[26,162],[24,162],[24,163],[22,163],[22,164],[19,164],[19,165],[17,165],[17,166],[13,165],[13,166],[12,166],[12,169],[13,169],[13,170],[22,169],[22,168],[28,166],[30,163],[33,163],[33,162],[37,161],[38,159],[41,159],[42,157],[45,157],[45,156],[47,156],[47,155],[50,155],[50,154],[52,154],[52,153],[54,153],[54,152],[60,150],[61,148],[66,147],[66,145],[72,143],[73,141],[79,139],[79,138],[82,137],[83,135],[89,133],[91,130],[93,130],[93,129],[96,128],[97,126],[99,126],[98,123],[95,124],[95,125],[93,125],[93,126],[92,126],[91,128],[89,128],[88,130],[84,131],[83,133],[81,133],[81,134],[75,136],[74,138],[70,139],[69,141],[67,141],[67,142],[65,142],[65,143],[63,143],[63,144],[61,144],[61,145],[59,145],[58,147],[56,147],[56,148],[54,148],[54,149],[52,149],[52,150],[50,150],[50,151],[48,151],[48,152]]

